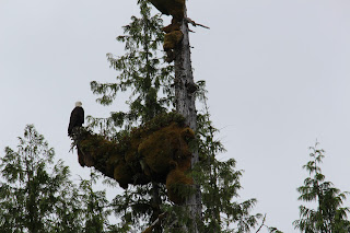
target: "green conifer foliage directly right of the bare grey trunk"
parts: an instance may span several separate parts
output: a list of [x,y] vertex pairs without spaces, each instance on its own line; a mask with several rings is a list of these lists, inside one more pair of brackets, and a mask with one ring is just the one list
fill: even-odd
[[203,114],[198,115],[198,164],[197,180],[201,184],[203,206],[203,229],[201,232],[250,232],[258,224],[261,214],[252,215],[256,199],[234,201],[242,188],[242,171],[235,170],[234,159],[219,161],[224,152],[222,143],[215,139],[218,129],[212,126],[206,103],[205,83],[201,86]]

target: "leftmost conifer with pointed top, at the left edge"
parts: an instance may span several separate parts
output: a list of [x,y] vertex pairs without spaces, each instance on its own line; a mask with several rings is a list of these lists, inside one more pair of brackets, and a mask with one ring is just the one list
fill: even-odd
[[54,164],[54,149],[33,125],[19,141],[18,150],[7,147],[0,160],[1,232],[78,232],[78,205],[67,199],[68,167]]

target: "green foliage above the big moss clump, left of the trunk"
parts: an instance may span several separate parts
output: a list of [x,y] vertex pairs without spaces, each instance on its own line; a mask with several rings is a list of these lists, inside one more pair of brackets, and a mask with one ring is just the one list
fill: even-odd
[[[125,44],[126,54],[115,57],[107,54],[110,67],[118,71],[116,83],[91,82],[94,94],[102,95],[97,102],[110,105],[117,93],[129,91],[127,102],[129,112],[112,113],[108,124],[121,127],[124,124],[144,123],[160,113],[164,113],[172,103],[171,83],[173,67],[162,63],[158,57],[158,48],[163,42],[162,20],[159,15],[151,16],[151,8],[145,0],[138,1],[140,18],[131,16],[131,23],[124,26],[124,33],[117,37]],[[165,95],[160,96],[160,93]],[[90,118],[96,126],[101,120]]]

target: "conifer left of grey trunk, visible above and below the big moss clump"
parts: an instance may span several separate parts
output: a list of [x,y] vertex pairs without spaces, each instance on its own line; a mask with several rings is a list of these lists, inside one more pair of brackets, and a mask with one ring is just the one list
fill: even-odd
[[[162,20],[151,16],[151,8],[145,0],[139,0],[140,16],[131,16],[131,23],[124,26],[125,35],[117,40],[125,44],[126,54],[115,57],[107,54],[110,67],[118,71],[116,83],[91,82],[91,90],[102,95],[97,102],[110,105],[119,92],[130,91],[128,112],[115,112],[106,119],[90,117],[91,127],[103,125],[101,131],[109,138],[122,133],[117,129],[129,130],[165,113],[173,103],[173,67],[164,65],[164,54],[159,51],[163,43]],[[131,187],[114,200],[115,214],[121,217],[119,231],[144,229],[161,213],[160,205],[164,197],[164,185]],[[165,195],[166,196],[166,195]],[[164,199],[164,198],[163,198]],[[122,230],[124,229],[124,230]],[[156,230],[155,230],[156,231]],[[160,231],[160,230],[158,230]]]

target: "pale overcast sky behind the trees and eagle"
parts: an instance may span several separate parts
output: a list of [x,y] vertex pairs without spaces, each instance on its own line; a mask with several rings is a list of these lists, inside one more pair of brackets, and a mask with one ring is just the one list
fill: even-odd
[[[124,54],[115,37],[138,14],[136,3],[0,0],[0,155],[34,124],[72,174],[89,174],[68,152],[70,112],[77,100],[86,115],[124,108],[122,96],[112,107],[95,103],[90,82],[114,81],[105,55]],[[326,178],[350,190],[350,1],[190,0],[187,8],[211,27],[190,34],[194,74],[207,81],[222,156],[245,170],[241,196],[258,199],[267,224],[296,232],[295,189],[316,139]]]

